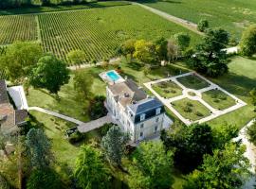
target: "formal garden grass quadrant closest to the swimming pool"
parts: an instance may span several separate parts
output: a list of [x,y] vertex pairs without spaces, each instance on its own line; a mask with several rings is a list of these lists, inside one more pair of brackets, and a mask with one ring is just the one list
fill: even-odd
[[165,98],[172,98],[174,96],[182,94],[182,89],[173,81],[163,81],[160,83],[155,83],[152,88],[157,94]]

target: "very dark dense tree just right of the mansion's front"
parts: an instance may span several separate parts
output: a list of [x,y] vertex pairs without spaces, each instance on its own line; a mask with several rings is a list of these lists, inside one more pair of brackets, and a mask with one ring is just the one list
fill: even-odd
[[168,150],[174,151],[174,165],[184,172],[200,165],[203,156],[211,154],[214,147],[213,133],[207,124],[176,126],[171,133],[163,131],[161,140]]

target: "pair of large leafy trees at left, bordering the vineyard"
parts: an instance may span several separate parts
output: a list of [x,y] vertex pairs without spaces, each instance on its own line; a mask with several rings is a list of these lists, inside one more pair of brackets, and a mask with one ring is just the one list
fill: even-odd
[[0,67],[13,83],[48,90],[58,94],[69,80],[69,70],[63,60],[44,54],[40,44],[15,42],[0,56]]

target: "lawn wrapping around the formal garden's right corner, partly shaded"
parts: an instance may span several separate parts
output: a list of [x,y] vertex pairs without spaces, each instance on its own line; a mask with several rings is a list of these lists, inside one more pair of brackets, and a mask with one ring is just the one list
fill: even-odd
[[235,57],[229,63],[229,74],[223,77],[210,78],[212,82],[226,89],[230,94],[247,102],[247,106],[234,112],[229,112],[209,122],[212,127],[221,127],[224,123],[243,128],[247,122],[256,117],[253,112],[249,91],[256,88],[256,60],[249,60],[242,57]]

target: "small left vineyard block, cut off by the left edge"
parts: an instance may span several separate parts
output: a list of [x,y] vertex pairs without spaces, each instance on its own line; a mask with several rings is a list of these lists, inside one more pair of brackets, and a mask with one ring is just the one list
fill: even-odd
[[36,41],[37,24],[35,16],[1,16],[0,44],[5,45],[15,41]]

